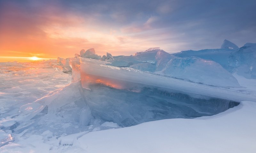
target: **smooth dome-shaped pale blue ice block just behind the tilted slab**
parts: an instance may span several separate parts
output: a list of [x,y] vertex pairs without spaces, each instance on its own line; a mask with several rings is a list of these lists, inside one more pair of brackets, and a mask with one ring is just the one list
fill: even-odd
[[171,77],[213,86],[240,86],[236,78],[219,63],[198,57],[173,58],[161,73]]

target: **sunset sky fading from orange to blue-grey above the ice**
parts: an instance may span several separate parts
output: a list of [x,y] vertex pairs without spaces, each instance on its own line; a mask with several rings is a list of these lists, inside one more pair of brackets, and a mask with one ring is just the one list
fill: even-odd
[[[255,0],[0,0],[0,62],[256,43]],[[18,57],[15,59],[15,57]],[[21,58],[20,58],[21,57]]]

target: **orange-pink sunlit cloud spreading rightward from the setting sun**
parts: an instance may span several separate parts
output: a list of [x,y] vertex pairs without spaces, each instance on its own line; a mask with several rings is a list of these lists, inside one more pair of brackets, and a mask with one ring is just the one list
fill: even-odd
[[[97,14],[81,16],[55,5],[34,8],[31,13],[18,4],[6,3],[0,11],[0,56],[67,58],[88,48],[95,48],[98,55],[131,55],[158,47],[146,39],[102,25],[94,19]],[[149,18],[144,27],[149,28],[155,20]],[[131,28],[136,32],[136,27]]]

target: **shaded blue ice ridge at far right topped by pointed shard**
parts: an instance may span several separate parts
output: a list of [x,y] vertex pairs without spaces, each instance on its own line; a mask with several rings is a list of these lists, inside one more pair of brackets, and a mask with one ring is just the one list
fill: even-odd
[[[181,51],[172,55],[179,57],[196,56],[219,63],[230,73],[237,72],[238,75],[249,79],[255,79],[255,57],[256,43],[246,43],[238,48],[228,40],[224,40],[221,49],[204,49],[199,51]],[[233,49],[232,49],[233,48]]]

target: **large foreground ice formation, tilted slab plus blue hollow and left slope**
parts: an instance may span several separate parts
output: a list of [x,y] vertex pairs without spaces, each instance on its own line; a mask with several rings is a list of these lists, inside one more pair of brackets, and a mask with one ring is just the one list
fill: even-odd
[[[223,88],[207,92],[208,86],[193,85],[195,89],[204,90],[198,94],[189,88],[190,82],[184,80],[108,66],[109,62],[105,61],[79,58],[80,62],[72,63],[73,73],[76,74],[73,83],[20,106],[20,113],[4,129],[13,130],[14,133],[27,130],[25,134],[50,131],[58,136],[129,127],[154,120],[209,116],[239,104],[222,99],[220,93],[227,92]],[[177,85],[181,88],[177,88]],[[224,94],[225,98],[237,99],[234,93],[229,93]]]

